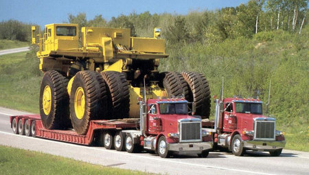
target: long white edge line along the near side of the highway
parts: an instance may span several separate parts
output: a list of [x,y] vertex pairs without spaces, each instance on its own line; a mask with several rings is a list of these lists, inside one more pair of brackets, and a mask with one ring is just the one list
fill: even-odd
[[[26,137],[23,135],[15,135],[13,133],[9,133],[9,132],[3,132],[0,131],[0,133],[5,134],[5,135],[14,135],[16,137]],[[35,137],[28,137],[29,139],[38,139]],[[52,142],[55,143],[55,141],[52,140],[47,140],[47,139],[40,139],[40,141],[47,141],[47,142]],[[65,143],[65,142],[57,142],[63,145],[69,145],[69,146],[75,146],[78,148],[85,148],[84,145],[76,145],[73,143]],[[113,154],[128,154],[126,152],[117,152],[115,150],[104,150],[104,149],[100,149],[100,148],[93,148],[93,147],[87,147],[88,149],[91,150],[98,150],[98,151],[103,151],[103,152],[113,152]],[[165,162],[169,162],[169,163],[176,163],[176,164],[182,164],[182,165],[190,165],[190,166],[196,166],[196,167],[203,167],[203,168],[215,168],[218,170],[229,170],[229,171],[234,171],[234,172],[244,172],[244,173],[249,173],[249,174],[267,174],[267,173],[262,173],[262,172],[252,172],[252,171],[247,171],[247,170],[238,170],[238,169],[233,169],[233,168],[227,168],[227,167],[218,167],[218,166],[211,166],[211,165],[201,165],[201,164],[194,164],[194,163],[185,163],[185,162],[181,162],[181,161],[172,161],[172,160],[168,160],[168,159],[161,159],[161,158],[155,158],[155,157],[148,157],[148,156],[141,156],[141,155],[137,155],[137,154],[130,154],[130,156],[135,156],[138,158],[143,158],[143,159],[151,159],[153,161],[165,161]]]

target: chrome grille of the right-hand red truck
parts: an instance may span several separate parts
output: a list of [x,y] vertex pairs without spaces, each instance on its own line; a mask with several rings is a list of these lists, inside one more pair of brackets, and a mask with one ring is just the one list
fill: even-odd
[[255,140],[275,140],[275,121],[255,121]]

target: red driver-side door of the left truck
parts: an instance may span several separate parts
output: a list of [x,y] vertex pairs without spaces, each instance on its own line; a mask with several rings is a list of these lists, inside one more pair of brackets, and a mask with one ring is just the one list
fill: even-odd
[[157,105],[148,105],[148,132],[155,134],[161,130],[161,119],[157,117]]

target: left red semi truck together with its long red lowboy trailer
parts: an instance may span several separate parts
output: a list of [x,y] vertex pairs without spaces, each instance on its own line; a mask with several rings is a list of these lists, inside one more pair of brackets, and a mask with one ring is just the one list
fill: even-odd
[[[207,157],[213,147],[211,129],[202,128],[199,116],[188,115],[184,99],[139,101],[139,119],[92,120],[86,135],[74,130],[47,130],[40,115],[11,116],[15,134],[90,145],[100,142],[106,149],[155,151],[165,158],[173,152]],[[137,130],[139,128],[139,130]]]

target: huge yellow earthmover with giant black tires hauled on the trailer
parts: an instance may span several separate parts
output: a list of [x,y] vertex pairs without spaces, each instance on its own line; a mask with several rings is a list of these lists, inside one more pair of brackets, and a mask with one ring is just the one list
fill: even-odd
[[78,24],[32,26],[44,72],[40,113],[47,129],[70,128],[84,135],[92,119],[139,117],[138,98],[183,96],[193,114],[209,117],[210,91],[205,76],[195,72],[158,71],[165,40],[131,37],[130,29],[82,27]]

